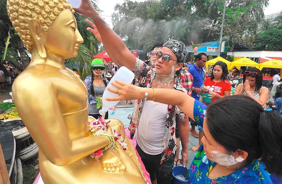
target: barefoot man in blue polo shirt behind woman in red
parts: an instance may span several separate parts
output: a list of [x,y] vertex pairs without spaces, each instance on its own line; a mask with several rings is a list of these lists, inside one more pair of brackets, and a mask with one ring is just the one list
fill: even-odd
[[[195,64],[188,69],[188,72],[191,73],[193,76],[193,87],[192,87],[192,95],[191,97],[195,98],[196,100],[200,99],[200,96],[197,96],[197,94],[200,93],[200,87],[203,85],[205,72],[204,67],[206,66],[207,57],[204,52],[199,53],[195,57],[196,61]],[[199,137],[199,145],[196,147],[192,147],[193,151],[197,151],[199,149],[199,146],[201,145],[201,138],[203,137],[203,131],[201,127],[198,127],[199,134],[195,130],[196,122],[189,118],[191,129],[190,132],[194,137]]]

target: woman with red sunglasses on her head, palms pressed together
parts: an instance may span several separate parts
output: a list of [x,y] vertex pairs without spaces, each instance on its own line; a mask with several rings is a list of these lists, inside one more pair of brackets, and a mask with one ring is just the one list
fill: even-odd
[[246,95],[264,106],[268,99],[268,88],[262,84],[261,71],[258,68],[249,67],[243,74],[243,83],[238,84],[233,95]]

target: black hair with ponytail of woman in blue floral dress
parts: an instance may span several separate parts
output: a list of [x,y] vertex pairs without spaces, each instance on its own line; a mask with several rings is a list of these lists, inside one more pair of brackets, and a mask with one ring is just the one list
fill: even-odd
[[206,108],[206,125],[228,152],[248,152],[248,163],[262,158],[268,172],[282,176],[282,117],[277,112],[264,112],[252,98],[232,95]]

